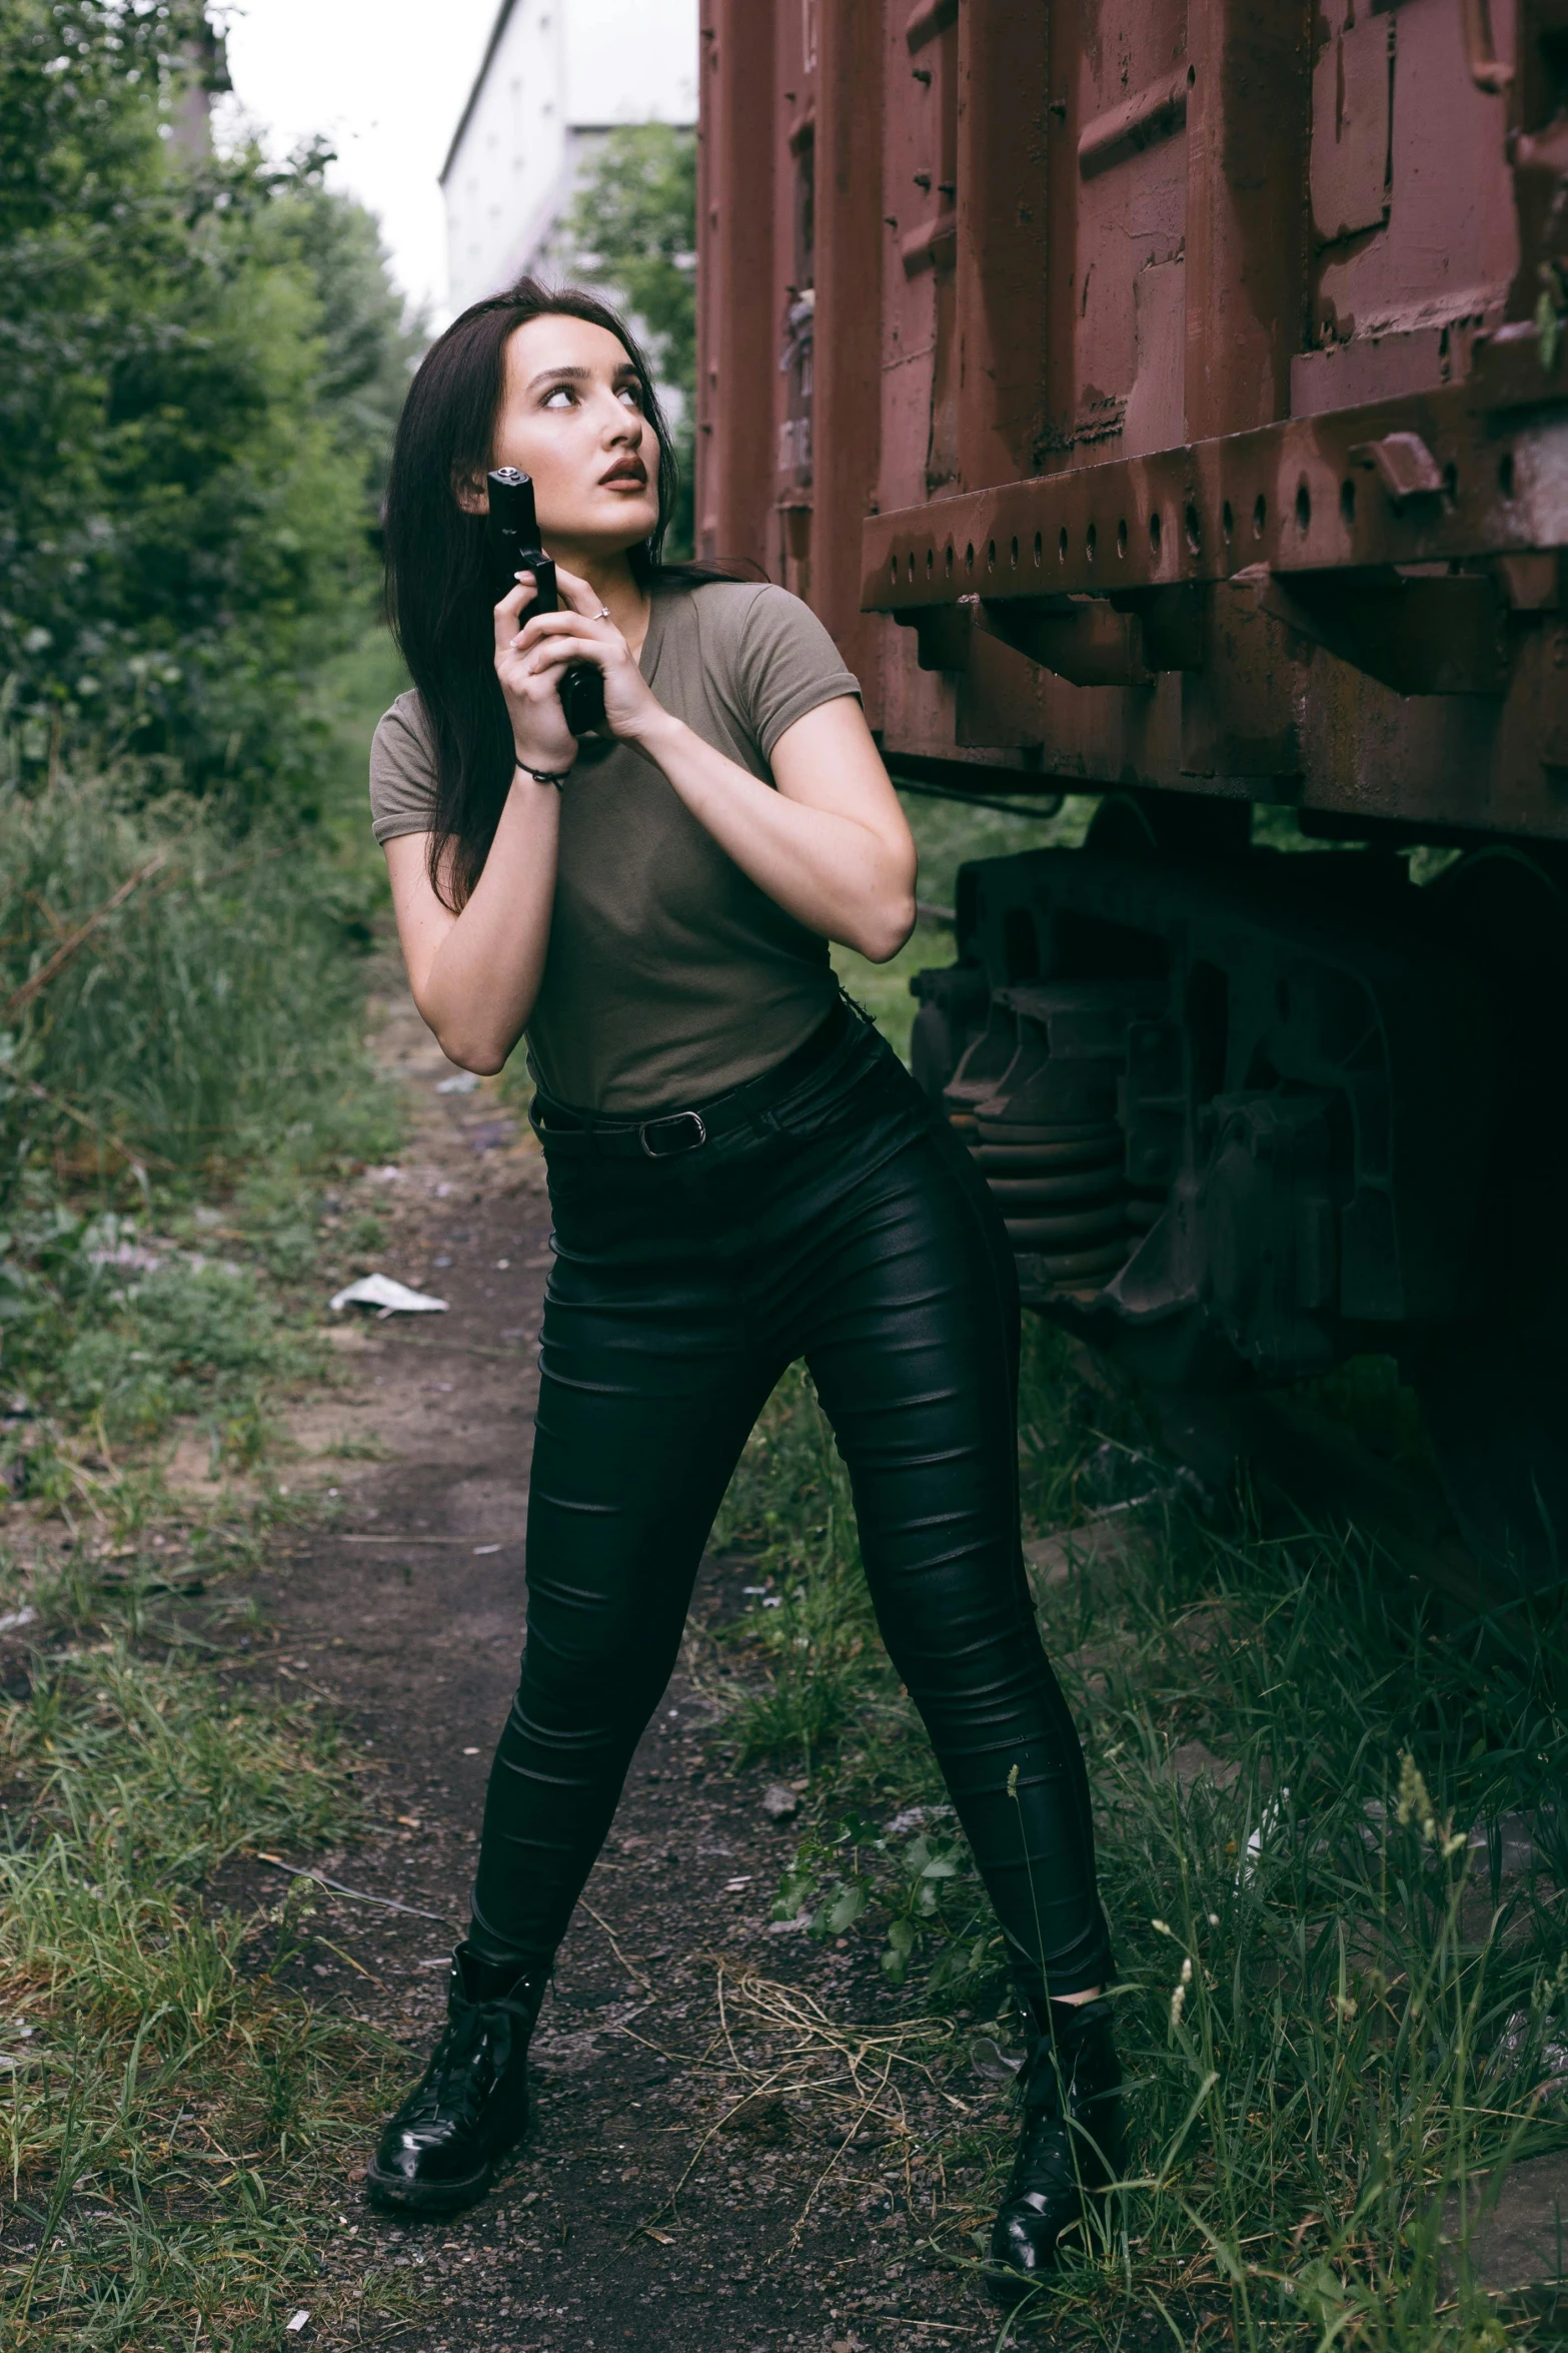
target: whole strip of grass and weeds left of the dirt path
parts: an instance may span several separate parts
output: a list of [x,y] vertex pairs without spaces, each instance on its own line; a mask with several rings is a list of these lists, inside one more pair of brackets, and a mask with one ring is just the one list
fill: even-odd
[[[282,1400],[327,1372],[322,1297],[378,1231],[334,1188],[397,1144],[362,1042],[364,753],[397,685],[381,635],[322,675],[292,833],[68,760],[35,800],[0,781],[0,1511],[28,1539],[0,1614],[33,1617],[0,1697],[7,2353],[259,2353],[301,2301],[324,2322],[324,2238],[402,2071],[282,1981],[303,1885],[214,1885],[360,1812],[331,1729],[219,1661],[226,1572],[294,1508]],[[263,1501],[172,1497],[188,1431]],[[364,2320],[388,2297],[371,2278]]]

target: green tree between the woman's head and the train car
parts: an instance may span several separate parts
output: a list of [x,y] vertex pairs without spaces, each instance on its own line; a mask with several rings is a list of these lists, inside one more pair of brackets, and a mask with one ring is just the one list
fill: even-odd
[[682,499],[668,534],[691,555],[691,452],[696,431],[696,132],[625,122],[607,132],[557,233],[562,275],[607,287],[632,313],[661,388],[677,398],[672,426]]

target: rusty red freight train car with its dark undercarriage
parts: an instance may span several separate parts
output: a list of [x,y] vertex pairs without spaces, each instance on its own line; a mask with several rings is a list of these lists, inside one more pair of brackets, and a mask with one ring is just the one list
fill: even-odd
[[[703,0],[698,551],[966,866],[914,1066],[1166,1388],[1392,1353],[1568,1537],[1568,0]],[[1300,856],[1295,849],[1319,854]]]

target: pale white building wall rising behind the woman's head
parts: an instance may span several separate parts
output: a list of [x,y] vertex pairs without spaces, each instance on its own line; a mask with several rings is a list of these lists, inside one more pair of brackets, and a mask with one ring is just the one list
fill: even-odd
[[698,0],[503,0],[442,172],[454,311],[520,278],[614,122],[696,122]]

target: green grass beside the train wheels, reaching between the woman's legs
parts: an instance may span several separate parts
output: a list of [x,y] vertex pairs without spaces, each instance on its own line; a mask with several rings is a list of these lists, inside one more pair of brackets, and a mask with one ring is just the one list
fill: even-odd
[[[1074,1362],[1032,1329],[1037,1527],[1084,1522],[1107,1449],[1114,1464],[1140,1445]],[[1178,1501],[1117,1525],[1119,1548],[1037,1600],[1095,1791],[1135,2169],[1032,2320],[1110,2346],[1131,2297],[1171,2315],[1173,2344],[1197,2341],[1204,2313],[1248,2348],[1502,2344],[1469,2240],[1512,2160],[1568,2144],[1561,2099],[1535,2097],[1568,2040],[1561,1652],[1443,1626],[1354,1539],[1211,1527]],[[844,1471],[799,1377],[724,1537],[780,1600],[757,1598],[726,1640],[731,1741],[811,1774],[778,1918],[867,1939],[910,1998],[994,2014],[1016,2040],[961,1840],[943,1814],[886,1831],[943,1791],[870,1626]],[[1493,1880],[1507,1814],[1535,1819],[1533,1880]],[[954,2139],[969,2212],[954,2195],[933,2252],[978,2259],[966,2231],[1006,2153],[1004,2129]]]

